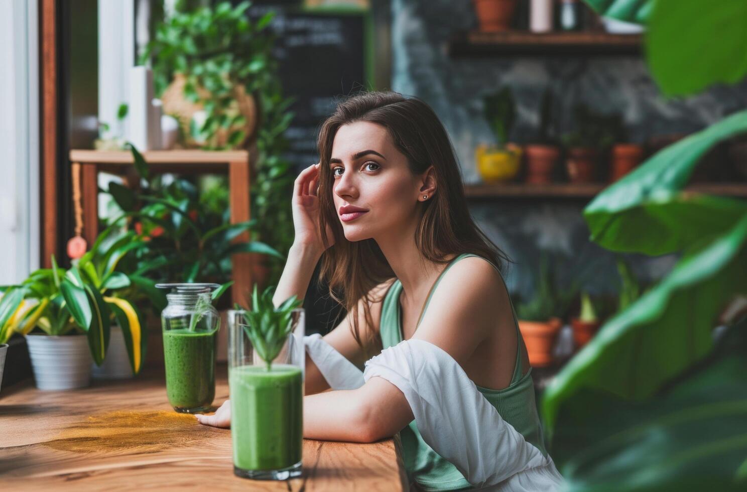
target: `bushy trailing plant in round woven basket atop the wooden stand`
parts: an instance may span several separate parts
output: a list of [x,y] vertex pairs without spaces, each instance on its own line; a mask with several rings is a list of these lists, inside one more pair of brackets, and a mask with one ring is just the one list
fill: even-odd
[[[267,26],[273,13],[252,21],[249,6],[223,1],[176,13],[158,25],[141,61],[150,60],[157,95],[170,87],[202,111],[201,123],[184,116],[182,122],[185,134],[204,142],[203,149],[255,145],[252,214],[258,222],[252,238],[285,254],[293,242],[288,196],[295,176],[282,153],[288,147],[284,132],[294,116],[288,111],[292,100],[282,96],[272,55],[275,37]],[[264,258],[255,256],[255,276],[276,282],[282,262],[265,267]]]

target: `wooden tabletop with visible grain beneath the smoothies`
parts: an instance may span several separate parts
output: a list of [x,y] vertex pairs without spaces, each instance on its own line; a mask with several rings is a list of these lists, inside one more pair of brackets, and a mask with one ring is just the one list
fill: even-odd
[[[215,403],[228,398],[219,367]],[[167,402],[164,376],[0,393],[0,490],[201,489],[403,491],[397,439],[371,444],[303,441],[303,477],[264,482],[233,474],[231,432],[202,426]]]

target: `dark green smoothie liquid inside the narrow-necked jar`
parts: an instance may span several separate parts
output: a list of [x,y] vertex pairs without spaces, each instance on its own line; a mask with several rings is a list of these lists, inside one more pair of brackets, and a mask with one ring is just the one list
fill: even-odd
[[217,331],[164,331],[166,394],[174,410],[205,411],[215,397]]

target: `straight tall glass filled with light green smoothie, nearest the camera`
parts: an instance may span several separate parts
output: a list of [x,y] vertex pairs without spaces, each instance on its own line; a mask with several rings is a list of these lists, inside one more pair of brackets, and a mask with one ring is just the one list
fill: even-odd
[[234,473],[265,480],[300,476],[305,312],[291,311],[290,334],[269,367],[252,346],[244,314],[228,314]]

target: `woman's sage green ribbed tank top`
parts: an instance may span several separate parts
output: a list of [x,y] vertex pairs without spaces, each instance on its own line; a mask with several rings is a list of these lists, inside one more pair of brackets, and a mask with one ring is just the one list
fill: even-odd
[[[438,275],[438,278],[428,295],[428,299],[426,299],[425,309],[421,314],[421,319],[418,320],[418,325],[420,325],[425,311],[428,308],[430,298],[433,296],[433,292],[436,291],[436,286],[438,286],[438,282],[443,278],[444,273],[446,273],[453,264],[456,264],[457,261],[470,256],[483,258],[479,255],[464,253],[450,261],[450,263],[447,264],[447,267],[444,268],[444,271],[441,272],[441,275]],[[491,262],[489,263],[496,271],[498,271],[498,275],[500,275],[500,270],[498,270],[498,268]],[[500,275],[500,279],[503,281],[502,275]],[[503,285],[506,285],[505,281],[503,281]],[[508,289],[506,288],[506,291],[507,290]],[[403,339],[402,310],[400,308],[401,292],[401,282],[399,280],[394,281],[384,298],[380,325],[381,340],[384,348],[395,346]],[[518,329],[516,314],[513,303],[510,299],[509,303],[511,304],[516,335],[518,340],[521,340],[521,331]],[[534,397],[532,369],[530,368],[524,376],[521,376],[521,367],[523,365],[522,360],[523,352],[521,352],[521,343],[517,343],[516,362],[509,386],[503,390],[492,390],[487,387],[477,386],[477,390],[479,390],[480,393],[483,393],[483,396],[485,396],[488,402],[498,410],[498,414],[500,414],[500,417],[503,417],[503,420],[506,420],[507,423],[511,424],[516,432],[519,432],[524,436],[524,439],[527,440],[528,443],[536,446],[542,452],[542,455],[546,456],[547,451],[545,450],[544,438],[542,436],[542,425],[539,422],[539,415],[537,414]],[[400,438],[403,446],[403,460],[409,478],[418,482],[418,485],[423,490],[455,491],[462,488],[471,488],[469,482],[467,482],[462,473],[459,473],[459,470],[457,470],[453,464],[446,459],[441,458],[438,453],[433,451],[433,449],[425,443],[420,432],[418,432],[418,426],[415,425],[415,420],[400,431]]]

